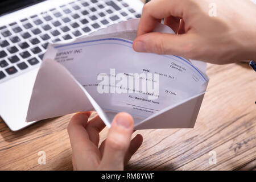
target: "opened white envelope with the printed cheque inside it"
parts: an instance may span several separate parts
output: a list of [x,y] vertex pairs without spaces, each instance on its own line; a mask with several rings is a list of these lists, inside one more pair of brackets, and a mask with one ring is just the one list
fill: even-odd
[[[135,129],[189,128],[207,89],[206,64],[133,50],[138,19],[72,42],[50,44],[36,77],[27,121],[96,110],[110,127],[125,111]],[[173,33],[159,24],[155,31]]]

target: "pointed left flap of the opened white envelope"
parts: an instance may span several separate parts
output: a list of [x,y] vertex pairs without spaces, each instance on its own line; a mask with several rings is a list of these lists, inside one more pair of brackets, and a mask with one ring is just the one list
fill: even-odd
[[50,59],[42,62],[28,106],[27,122],[92,109],[67,69]]

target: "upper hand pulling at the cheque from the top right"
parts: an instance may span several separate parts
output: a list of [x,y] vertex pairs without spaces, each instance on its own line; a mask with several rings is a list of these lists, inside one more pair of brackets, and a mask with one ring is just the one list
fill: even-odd
[[[216,5],[216,17],[209,15],[210,5]],[[143,8],[133,48],[214,64],[253,60],[255,17],[250,0],[152,0]],[[152,32],[162,19],[176,35]]]

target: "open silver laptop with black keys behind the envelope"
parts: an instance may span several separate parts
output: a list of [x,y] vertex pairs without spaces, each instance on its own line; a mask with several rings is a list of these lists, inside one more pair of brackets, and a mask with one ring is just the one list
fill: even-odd
[[[0,2],[0,117],[12,131],[25,122],[49,43],[89,35],[141,16],[139,0],[2,0]],[[46,88],[47,89],[47,88]]]

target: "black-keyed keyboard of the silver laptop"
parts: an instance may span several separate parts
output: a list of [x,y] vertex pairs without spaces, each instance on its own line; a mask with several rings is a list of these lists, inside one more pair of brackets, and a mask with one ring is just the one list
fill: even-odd
[[39,65],[49,43],[140,15],[123,0],[77,0],[0,27],[0,82]]

